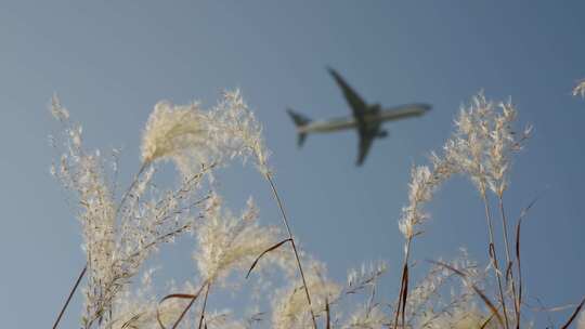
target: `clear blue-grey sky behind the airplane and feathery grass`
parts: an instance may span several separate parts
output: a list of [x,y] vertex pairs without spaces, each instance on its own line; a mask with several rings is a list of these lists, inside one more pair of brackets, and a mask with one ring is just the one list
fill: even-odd
[[[53,92],[90,146],[123,147],[130,177],[157,101],[210,106],[222,90],[240,88],[265,127],[303,248],[338,280],[364,260],[388,260],[388,299],[400,275],[396,220],[411,166],[442,145],[459,105],[479,90],[511,96],[520,122],[535,128],[507,195],[514,218],[541,196],[524,226],[528,293],[546,305],[577,302],[585,100],[570,92],[585,78],[584,13],[583,1],[1,1],[2,327],[49,327],[84,263],[79,225],[49,174]],[[375,142],[363,168],[354,167],[354,132],[311,135],[298,149],[286,107],[312,118],[350,113],[326,66],[367,101],[427,102],[433,110],[387,124],[390,136]],[[233,208],[251,194],[263,221],[280,224],[251,170],[229,171],[223,182]],[[467,246],[485,262],[481,207],[467,181],[446,184],[414,256],[448,258]],[[172,262],[178,277],[193,273],[191,263]],[[77,324],[80,300],[63,328]]]

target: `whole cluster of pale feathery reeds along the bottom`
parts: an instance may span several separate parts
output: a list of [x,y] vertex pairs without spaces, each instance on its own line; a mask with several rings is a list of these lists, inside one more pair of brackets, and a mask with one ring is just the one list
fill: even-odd
[[[268,164],[262,128],[239,92],[224,93],[207,110],[196,103],[156,104],[143,131],[141,164],[121,192],[118,152],[87,150],[81,127],[56,97],[51,111],[62,126],[61,135],[52,139],[62,155],[51,171],[77,205],[87,259],[53,328],[79,286],[84,329],[531,327],[520,252],[521,223],[530,206],[514,223],[504,206],[512,157],[531,128],[514,130],[517,111],[510,102],[474,96],[461,108],[442,153],[431,155],[431,166],[413,168],[408,205],[399,220],[405,244],[395,302],[377,290],[384,262],[350,271],[348,281],[337,284],[323,263],[300,250]],[[236,159],[256,166],[278,206],[282,227],[261,224],[251,198],[240,213],[226,208],[216,188],[217,171]],[[177,186],[154,183],[162,161],[176,164]],[[429,219],[425,205],[456,174],[470,179],[484,203],[490,262],[482,267],[464,251],[451,261],[428,262],[427,275],[413,284],[412,245]],[[502,246],[495,242],[494,221],[500,221]],[[145,263],[179,237],[193,241],[197,275],[157,294],[160,287],[153,287],[153,271]],[[246,294],[247,310],[209,310],[217,291],[244,288],[252,291]],[[576,323],[582,306],[562,328]]]

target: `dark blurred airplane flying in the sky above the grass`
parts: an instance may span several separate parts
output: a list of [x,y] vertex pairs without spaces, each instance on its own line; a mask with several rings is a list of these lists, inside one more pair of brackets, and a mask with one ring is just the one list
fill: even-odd
[[312,121],[288,108],[287,113],[295,122],[298,134],[298,145],[301,147],[309,133],[328,133],[347,129],[356,129],[360,137],[356,166],[362,166],[375,139],[388,136],[388,132],[380,129],[384,121],[393,121],[410,117],[419,117],[431,109],[431,105],[413,103],[382,108],[379,104],[367,104],[333,68],[327,68],[346,101],[350,105],[353,116],[334,118],[329,120]]

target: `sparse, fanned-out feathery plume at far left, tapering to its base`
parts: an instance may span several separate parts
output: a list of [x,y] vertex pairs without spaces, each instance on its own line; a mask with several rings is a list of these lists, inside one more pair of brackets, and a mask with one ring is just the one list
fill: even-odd
[[191,229],[191,210],[202,198],[197,190],[203,173],[185,180],[178,190],[160,195],[152,188],[155,169],[151,167],[135,179],[120,205],[112,192],[109,166],[99,150],[82,148],[82,129],[69,121],[56,96],[51,113],[62,123],[65,149],[58,169],[54,164],[52,172],[80,207],[88,275],[82,325],[90,328],[116,316],[112,307],[118,294],[160,244]]

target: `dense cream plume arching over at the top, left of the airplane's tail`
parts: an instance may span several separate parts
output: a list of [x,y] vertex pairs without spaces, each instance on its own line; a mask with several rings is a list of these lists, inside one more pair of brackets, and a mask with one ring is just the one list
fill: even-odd
[[225,92],[209,110],[203,110],[198,103],[157,103],[141,149],[143,163],[172,160],[186,176],[202,163],[221,164],[234,157],[245,161],[249,156],[262,173],[269,172],[262,127],[237,90]]

